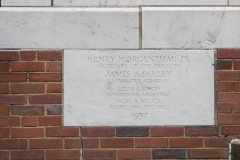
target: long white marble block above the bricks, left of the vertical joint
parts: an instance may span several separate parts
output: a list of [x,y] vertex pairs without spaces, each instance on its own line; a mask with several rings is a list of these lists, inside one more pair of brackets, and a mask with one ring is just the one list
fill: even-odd
[[138,8],[0,8],[0,48],[138,49]]

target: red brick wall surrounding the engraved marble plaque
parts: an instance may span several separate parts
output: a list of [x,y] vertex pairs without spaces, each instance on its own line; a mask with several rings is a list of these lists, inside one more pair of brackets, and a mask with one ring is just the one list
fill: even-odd
[[[63,127],[62,51],[0,51],[0,159],[227,159],[240,50],[217,51],[216,126]],[[197,118],[197,117],[196,117]]]

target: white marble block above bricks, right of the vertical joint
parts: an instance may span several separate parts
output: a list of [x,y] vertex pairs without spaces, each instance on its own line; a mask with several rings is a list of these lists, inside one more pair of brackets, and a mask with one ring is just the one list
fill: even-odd
[[239,48],[240,7],[143,7],[143,48]]

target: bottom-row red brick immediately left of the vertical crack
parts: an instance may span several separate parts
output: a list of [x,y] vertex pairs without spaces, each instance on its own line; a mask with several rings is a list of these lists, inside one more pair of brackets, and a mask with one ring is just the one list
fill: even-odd
[[46,151],[47,160],[58,160],[58,159],[80,159],[80,150],[47,150]]

